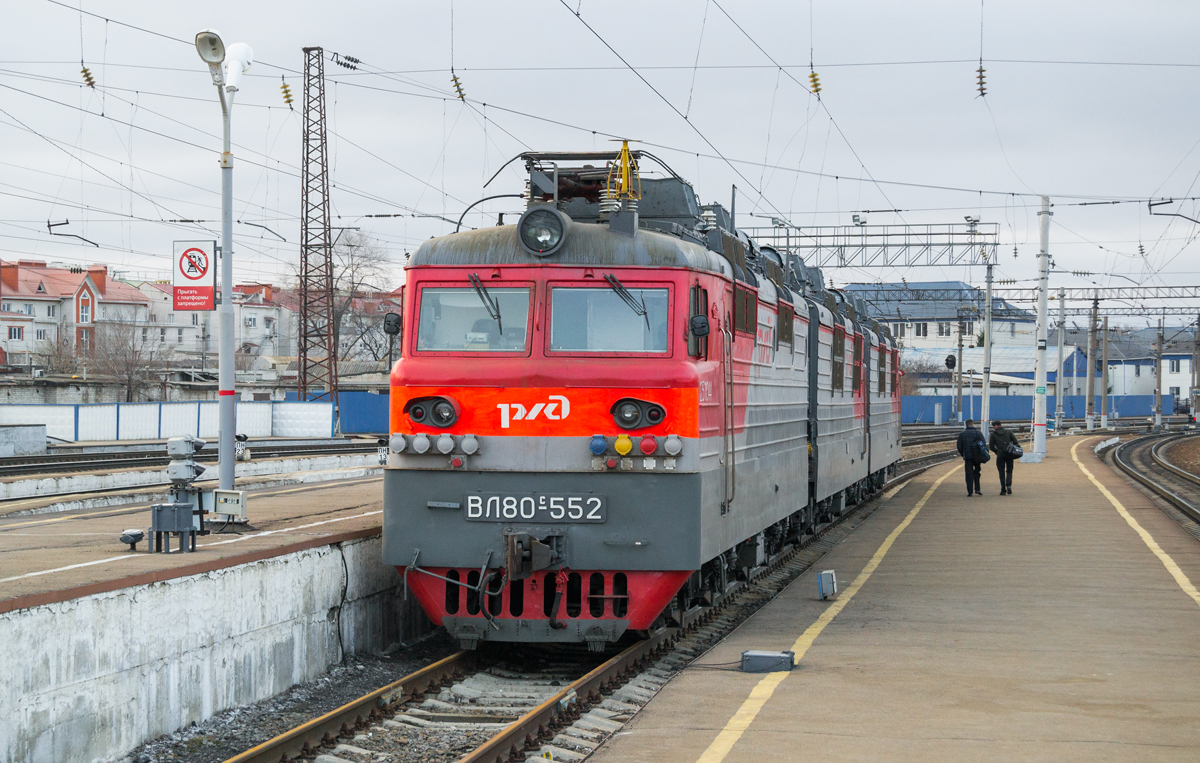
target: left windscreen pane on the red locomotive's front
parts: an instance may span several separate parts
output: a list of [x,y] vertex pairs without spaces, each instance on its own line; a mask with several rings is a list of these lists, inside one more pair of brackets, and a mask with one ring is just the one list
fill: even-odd
[[529,289],[442,288],[420,292],[416,349],[521,353],[529,344]]

